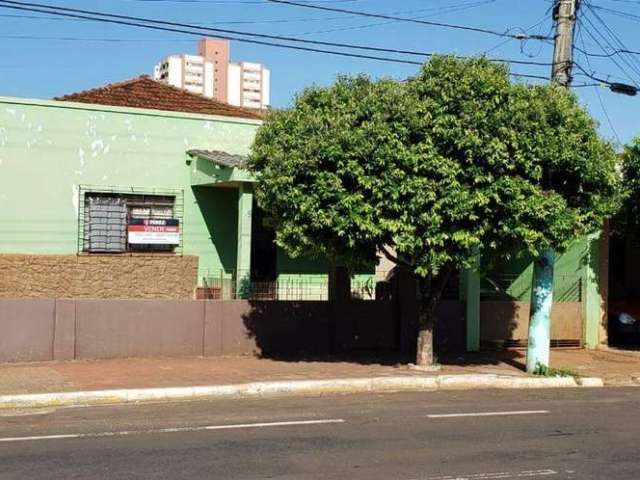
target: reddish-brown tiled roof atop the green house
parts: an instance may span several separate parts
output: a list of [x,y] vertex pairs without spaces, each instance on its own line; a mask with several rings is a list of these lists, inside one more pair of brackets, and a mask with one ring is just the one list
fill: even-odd
[[223,115],[225,117],[262,118],[262,112],[258,110],[218,102],[166,83],[157,82],[146,75],[124,82],[110,83],[91,90],[55,97],[55,100],[115,107],[203,113],[207,115]]

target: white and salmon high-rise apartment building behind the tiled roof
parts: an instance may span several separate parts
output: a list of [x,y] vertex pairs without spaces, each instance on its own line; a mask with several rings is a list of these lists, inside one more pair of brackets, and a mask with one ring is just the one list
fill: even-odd
[[230,62],[228,40],[203,38],[198,55],[177,54],[162,60],[154,79],[220,102],[246,108],[270,104],[271,72],[254,62]]

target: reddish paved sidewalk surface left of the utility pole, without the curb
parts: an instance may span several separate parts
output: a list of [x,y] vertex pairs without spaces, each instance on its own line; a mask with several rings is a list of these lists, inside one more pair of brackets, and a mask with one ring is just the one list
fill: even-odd
[[2,364],[0,395],[398,375],[524,375],[517,367],[500,360],[478,365],[444,365],[438,372],[425,373],[412,370],[395,358],[383,358],[382,361],[371,358],[288,361],[255,357],[190,357]]

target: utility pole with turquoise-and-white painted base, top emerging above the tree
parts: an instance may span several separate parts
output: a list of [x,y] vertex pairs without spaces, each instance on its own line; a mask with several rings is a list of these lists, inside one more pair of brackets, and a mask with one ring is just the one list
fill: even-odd
[[[573,32],[580,0],[555,0],[555,46],[551,81],[563,87],[571,85],[573,67]],[[553,306],[553,270],[555,251],[549,248],[533,265],[527,372],[549,366],[551,350],[551,307]]]

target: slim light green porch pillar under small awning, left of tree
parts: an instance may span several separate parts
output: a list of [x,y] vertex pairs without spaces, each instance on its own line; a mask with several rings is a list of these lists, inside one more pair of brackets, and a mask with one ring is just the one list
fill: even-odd
[[236,298],[247,298],[251,277],[251,213],[253,191],[246,183],[238,189],[238,256],[236,259]]

